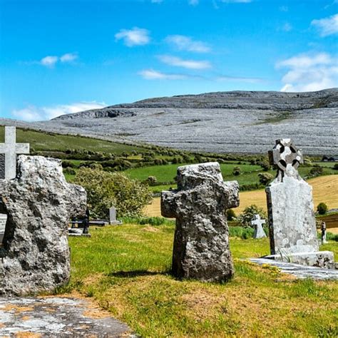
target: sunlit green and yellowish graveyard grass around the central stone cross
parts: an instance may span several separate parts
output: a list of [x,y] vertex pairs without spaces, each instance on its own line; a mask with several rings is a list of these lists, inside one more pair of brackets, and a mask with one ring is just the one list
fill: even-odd
[[[71,237],[71,283],[58,292],[96,299],[141,337],[337,337],[338,282],[296,281],[240,258],[269,252],[267,239],[230,238],[227,284],[170,275],[173,225],[91,228]],[[338,254],[338,243],[322,250]]]

